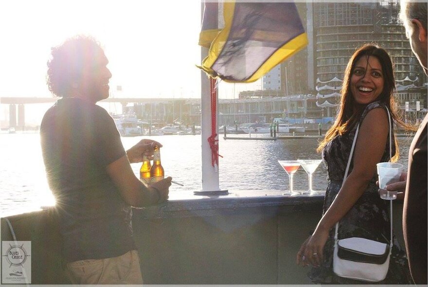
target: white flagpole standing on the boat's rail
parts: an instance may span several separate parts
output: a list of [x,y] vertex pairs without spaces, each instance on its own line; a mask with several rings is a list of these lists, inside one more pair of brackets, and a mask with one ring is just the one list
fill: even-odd
[[[204,3],[201,3],[201,18],[204,13]],[[201,62],[208,55],[208,49],[201,47]],[[216,99],[218,102],[218,98]],[[216,115],[218,119],[218,111]],[[218,125],[215,123],[218,135]],[[202,150],[202,191],[219,191],[218,166],[211,164],[211,147],[208,138],[211,136],[211,94],[210,80],[201,70],[201,150]],[[218,136],[215,138],[218,139]]]

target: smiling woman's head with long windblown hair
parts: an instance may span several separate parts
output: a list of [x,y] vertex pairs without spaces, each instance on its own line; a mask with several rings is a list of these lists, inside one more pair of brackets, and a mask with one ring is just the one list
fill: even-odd
[[[371,44],[358,48],[346,67],[336,121],[326,132],[318,151],[321,152],[336,136],[342,136],[355,128],[366,106],[375,101],[383,103],[391,111],[392,119],[397,124],[412,129],[398,113],[394,90],[394,73],[389,54],[383,48]],[[398,151],[397,143],[395,147]],[[397,158],[398,152],[392,160]]]

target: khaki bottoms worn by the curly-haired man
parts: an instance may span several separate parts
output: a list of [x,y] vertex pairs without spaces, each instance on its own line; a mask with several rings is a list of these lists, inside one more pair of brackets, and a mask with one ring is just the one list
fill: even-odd
[[118,257],[70,262],[66,273],[72,284],[143,284],[136,250]]

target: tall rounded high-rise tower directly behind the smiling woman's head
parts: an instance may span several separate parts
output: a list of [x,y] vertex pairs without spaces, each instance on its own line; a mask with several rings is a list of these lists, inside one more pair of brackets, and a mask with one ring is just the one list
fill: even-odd
[[307,5],[312,6],[312,40],[317,67],[314,85],[320,107],[338,104],[346,64],[363,43],[377,43],[388,51],[394,63],[396,84],[402,93],[426,83],[426,76],[411,52],[399,21],[397,1],[317,2]]

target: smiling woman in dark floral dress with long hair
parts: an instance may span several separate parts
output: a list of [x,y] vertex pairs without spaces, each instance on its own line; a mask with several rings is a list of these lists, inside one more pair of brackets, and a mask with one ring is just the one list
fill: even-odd
[[[314,283],[364,283],[336,274],[334,238],[361,237],[383,242],[383,238],[391,236],[392,242],[390,219],[384,216],[388,207],[378,195],[375,170],[378,162],[398,158],[391,126],[392,120],[402,122],[395,110],[394,90],[388,53],[375,45],[358,48],[346,67],[336,121],[318,147],[327,163],[329,179],[323,215],[297,253],[297,264],[313,266],[308,275]],[[337,222],[339,235],[330,232]],[[389,273],[379,282],[409,284],[405,251],[396,241],[391,247]]]

